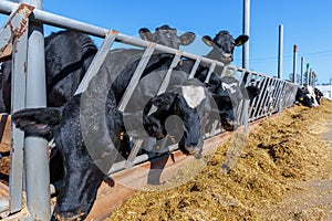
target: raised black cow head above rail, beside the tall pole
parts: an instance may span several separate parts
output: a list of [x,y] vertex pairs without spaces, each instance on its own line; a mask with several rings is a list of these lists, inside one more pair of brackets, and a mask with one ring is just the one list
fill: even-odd
[[228,31],[220,31],[216,34],[215,39],[211,39],[209,35],[201,38],[204,43],[208,46],[212,46],[212,51],[207,54],[207,57],[220,61],[226,65],[232,62],[235,48],[242,45],[248,39],[249,36],[245,34],[234,39]]

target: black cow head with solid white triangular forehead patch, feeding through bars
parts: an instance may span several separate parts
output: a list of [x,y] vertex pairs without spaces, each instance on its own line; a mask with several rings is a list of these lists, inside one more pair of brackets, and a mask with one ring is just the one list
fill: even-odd
[[[205,87],[199,85],[181,85],[177,90],[155,96],[149,99],[144,108],[144,128],[149,136],[159,139],[164,138],[166,134],[174,134],[170,130],[183,130],[179,148],[185,154],[200,157],[203,149],[200,112],[205,101]],[[149,113],[153,106],[156,107],[156,109]],[[172,128],[166,128],[165,123],[167,118],[173,115],[181,119],[181,125],[172,125]]]

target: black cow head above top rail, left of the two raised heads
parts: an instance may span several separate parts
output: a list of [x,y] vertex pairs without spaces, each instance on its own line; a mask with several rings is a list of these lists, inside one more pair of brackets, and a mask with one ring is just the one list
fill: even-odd
[[167,24],[156,28],[154,33],[147,28],[142,28],[139,29],[139,35],[145,41],[155,42],[173,49],[179,49],[180,45],[188,45],[196,38],[196,34],[193,32],[186,32],[178,36],[177,30]]

